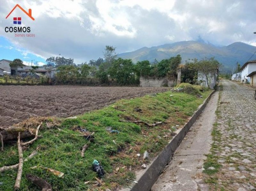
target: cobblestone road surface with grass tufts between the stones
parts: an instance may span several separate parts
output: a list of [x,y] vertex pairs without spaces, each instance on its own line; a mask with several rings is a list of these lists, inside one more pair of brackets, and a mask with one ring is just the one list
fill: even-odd
[[[256,189],[256,100],[254,89],[223,80],[217,109],[212,154],[222,165],[219,172],[205,175],[210,190]],[[209,167],[210,169],[213,167]],[[216,180],[211,182],[209,180]]]

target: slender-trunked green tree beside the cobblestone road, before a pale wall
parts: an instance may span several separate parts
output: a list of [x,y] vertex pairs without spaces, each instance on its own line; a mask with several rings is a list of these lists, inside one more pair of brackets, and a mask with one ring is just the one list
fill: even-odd
[[206,78],[207,86],[210,88],[209,85],[209,78],[210,76],[217,73],[220,63],[211,57],[210,59],[204,58],[203,60],[197,61],[195,60],[194,67],[197,69],[198,72],[203,73]]

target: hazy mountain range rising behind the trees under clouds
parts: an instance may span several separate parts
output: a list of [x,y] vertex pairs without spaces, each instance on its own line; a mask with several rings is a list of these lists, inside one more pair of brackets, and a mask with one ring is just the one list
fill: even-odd
[[[142,60],[153,62],[155,59],[161,61],[169,57],[180,54],[182,62],[188,59],[203,59],[204,57],[215,57],[224,70],[231,70],[236,62],[240,65],[244,63],[256,52],[256,47],[243,42],[235,42],[228,46],[217,47],[202,41],[181,41],[172,44],[164,44],[155,47],[143,47],[133,52],[126,52],[118,56],[124,59],[132,59],[134,63]],[[256,59],[256,54],[251,58]]]

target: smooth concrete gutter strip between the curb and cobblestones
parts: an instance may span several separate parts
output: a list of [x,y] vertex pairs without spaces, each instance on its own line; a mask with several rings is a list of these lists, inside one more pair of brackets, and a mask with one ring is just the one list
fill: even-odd
[[152,191],[207,190],[197,173],[202,172],[204,154],[211,148],[211,132],[215,122],[219,92],[212,95],[204,112],[174,153],[172,160],[151,188]]

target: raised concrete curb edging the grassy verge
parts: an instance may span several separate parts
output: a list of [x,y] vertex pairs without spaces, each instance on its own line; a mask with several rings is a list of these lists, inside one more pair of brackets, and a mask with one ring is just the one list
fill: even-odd
[[142,174],[137,176],[138,184],[134,184],[132,188],[124,188],[123,191],[149,191],[151,187],[156,182],[158,176],[169,162],[172,154],[180,145],[180,142],[183,140],[185,135],[188,133],[190,127],[196,121],[196,118],[201,114],[204,110],[206,104],[210,100],[212,94],[215,90],[204,100],[204,103],[198,107],[198,110],[194,113],[194,115],[189,119],[188,123],[180,129],[180,132],[166,145],[161,153],[150,163],[148,164],[147,170]]

